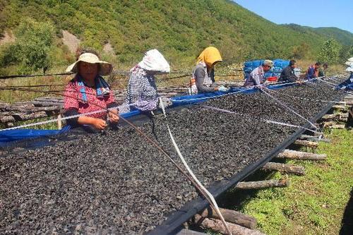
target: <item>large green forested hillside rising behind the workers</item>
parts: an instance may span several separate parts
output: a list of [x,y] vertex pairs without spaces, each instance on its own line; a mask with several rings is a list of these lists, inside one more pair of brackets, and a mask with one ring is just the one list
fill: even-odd
[[[160,49],[174,65],[193,64],[209,45],[219,48],[228,61],[316,59],[332,36],[277,25],[225,0],[0,0],[0,8],[1,32],[15,30],[25,18],[49,22],[58,37],[68,30],[83,46],[102,50],[110,42],[117,61],[126,65],[151,48]],[[345,42],[353,38],[342,37]]]

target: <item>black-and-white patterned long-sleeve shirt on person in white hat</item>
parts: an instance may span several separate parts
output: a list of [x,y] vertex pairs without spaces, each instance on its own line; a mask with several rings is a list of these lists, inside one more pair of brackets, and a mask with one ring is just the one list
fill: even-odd
[[[130,104],[130,106],[128,106]],[[120,114],[132,110],[152,111],[157,108],[158,94],[155,77],[146,73],[143,68],[135,66],[131,69],[128,80],[128,90],[124,104],[119,109]]]

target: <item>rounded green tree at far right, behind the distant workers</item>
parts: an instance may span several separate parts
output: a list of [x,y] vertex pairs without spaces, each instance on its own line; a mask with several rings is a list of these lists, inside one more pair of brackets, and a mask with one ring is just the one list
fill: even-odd
[[340,59],[341,45],[334,39],[329,39],[323,43],[318,54],[318,61],[335,64]]

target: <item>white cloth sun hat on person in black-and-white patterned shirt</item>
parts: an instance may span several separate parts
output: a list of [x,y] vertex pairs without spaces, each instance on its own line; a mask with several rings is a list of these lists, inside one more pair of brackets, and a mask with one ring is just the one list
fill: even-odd
[[164,56],[157,49],[152,49],[145,53],[143,60],[138,66],[147,71],[156,71],[160,73],[170,73],[170,66]]

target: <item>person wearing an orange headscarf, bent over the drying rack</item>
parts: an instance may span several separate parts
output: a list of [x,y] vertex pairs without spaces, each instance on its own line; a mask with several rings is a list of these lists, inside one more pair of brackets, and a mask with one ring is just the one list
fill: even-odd
[[190,93],[195,95],[203,92],[217,90],[227,91],[224,86],[217,87],[215,83],[215,64],[222,61],[220,52],[215,47],[207,47],[198,56],[196,67],[193,70],[193,78],[190,83]]

